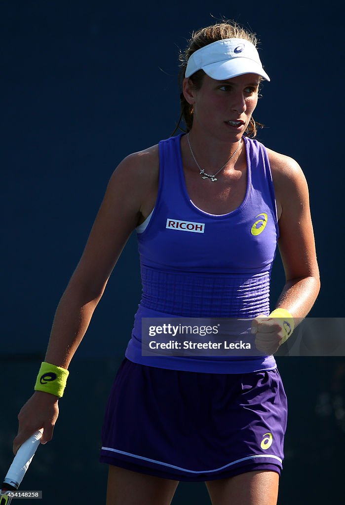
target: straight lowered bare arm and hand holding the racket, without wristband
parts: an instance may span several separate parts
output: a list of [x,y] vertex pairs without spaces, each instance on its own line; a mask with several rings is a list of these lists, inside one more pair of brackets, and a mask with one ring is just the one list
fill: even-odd
[[[100,301],[111,272],[131,232],[146,217],[147,195],[158,185],[158,152],[154,146],[127,157],[113,173],[82,257],[56,311],[45,361],[68,368]],[[13,448],[37,429],[51,440],[58,417],[58,397],[35,391],[21,409]]]

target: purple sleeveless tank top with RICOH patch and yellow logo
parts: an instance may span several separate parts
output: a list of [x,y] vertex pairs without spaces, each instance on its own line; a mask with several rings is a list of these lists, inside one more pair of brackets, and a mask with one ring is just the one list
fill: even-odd
[[[279,231],[266,148],[257,140],[243,137],[247,191],[237,209],[214,215],[196,207],[188,196],[181,136],[159,143],[156,205],[146,220],[147,226],[145,222],[137,229],[142,298],[126,357],[142,365],[196,372],[272,370],[276,367],[273,356],[141,354],[143,317],[251,320],[270,312],[270,274]],[[201,183],[210,181],[201,180]]]

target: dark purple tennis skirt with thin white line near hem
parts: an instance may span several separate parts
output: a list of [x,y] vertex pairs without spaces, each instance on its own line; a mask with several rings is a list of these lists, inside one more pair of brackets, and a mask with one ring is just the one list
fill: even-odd
[[192,482],[280,474],[286,419],[277,369],[210,374],[125,358],[106,408],[100,461]]

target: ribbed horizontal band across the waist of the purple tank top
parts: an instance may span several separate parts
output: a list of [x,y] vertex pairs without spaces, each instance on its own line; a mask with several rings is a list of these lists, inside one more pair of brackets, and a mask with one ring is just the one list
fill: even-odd
[[240,274],[166,272],[141,265],[147,309],[182,317],[254,318],[269,314],[270,272]]

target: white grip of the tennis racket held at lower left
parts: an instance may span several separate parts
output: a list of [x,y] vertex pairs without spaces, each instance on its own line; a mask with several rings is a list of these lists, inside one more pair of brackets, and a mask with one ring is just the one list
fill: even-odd
[[18,489],[36,452],[41,436],[42,431],[38,430],[19,447],[4,482]]

